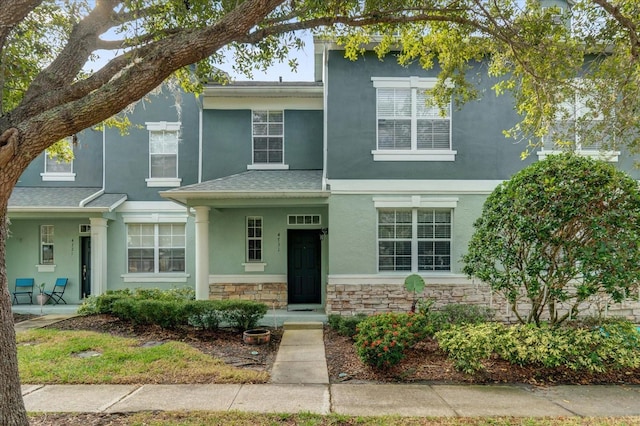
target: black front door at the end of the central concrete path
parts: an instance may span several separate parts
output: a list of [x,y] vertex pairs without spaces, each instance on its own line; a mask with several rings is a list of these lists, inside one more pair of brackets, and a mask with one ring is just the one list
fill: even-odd
[[289,304],[321,303],[319,231],[289,229],[287,237]]

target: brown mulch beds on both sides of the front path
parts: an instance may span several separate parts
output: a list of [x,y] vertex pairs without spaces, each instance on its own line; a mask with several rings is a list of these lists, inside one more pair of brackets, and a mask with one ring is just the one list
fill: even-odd
[[[282,338],[282,329],[271,330],[271,342],[252,346],[242,341],[242,333],[233,329],[215,331],[182,327],[165,330],[157,326],[135,326],[110,315],[74,317],[50,327],[62,330],[93,330],[145,342],[177,340],[220,358],[240,368],[271,371]],[[406,382],[406,383],[523,383],[556,384],[640,384],[640,369],[609,373],[578,372],[567,368],[517,366],[500,359],[484,363],[483,372],[469,375],[457,371],[437,342],[426,339],[406,352],[397,366],[378,370],[363,364],[356,355],[353,341],[325,327],[325,352],[332,383]],[[255,354],[257,352],[257,354]]]

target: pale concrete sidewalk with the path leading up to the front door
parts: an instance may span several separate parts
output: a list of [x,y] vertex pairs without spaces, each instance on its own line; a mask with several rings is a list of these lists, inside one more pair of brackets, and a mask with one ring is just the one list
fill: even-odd
[[[59,319],[43,317],[20,328]],[[329,384],[322,328],[317,323],[285,326],[269,384],[25,384],[22,392],[31,412],[237,410],[420,417],[638,416],[625,421],[640,423],[640,386]]]

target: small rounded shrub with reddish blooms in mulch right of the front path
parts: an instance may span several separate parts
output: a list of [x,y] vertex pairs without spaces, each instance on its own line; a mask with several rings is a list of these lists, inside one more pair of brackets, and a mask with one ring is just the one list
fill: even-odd
[[372,315],[358,325],[354,346],[362,362],[386,368],[404,359],[404,351],[429,334],[427,317],[414,313]]

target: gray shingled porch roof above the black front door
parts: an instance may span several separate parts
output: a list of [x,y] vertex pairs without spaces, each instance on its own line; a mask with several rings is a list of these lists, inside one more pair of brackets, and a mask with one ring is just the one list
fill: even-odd
[[250,170],[207,182],[160,192],[185,203],[188,199],[328,197],[322,170]]

